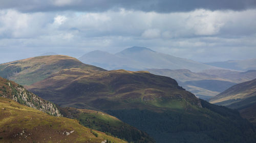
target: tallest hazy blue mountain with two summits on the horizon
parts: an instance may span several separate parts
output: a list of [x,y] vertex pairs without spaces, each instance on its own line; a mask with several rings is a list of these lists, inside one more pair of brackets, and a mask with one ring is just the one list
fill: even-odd
[[131,47],[116,54],[94,51],[84,54],[79,60],[83,63],[96,65],[108,70],[119,68],[136,71],[156,68],[201,71],[216,68],[195,61],[159,53],[145,47]]

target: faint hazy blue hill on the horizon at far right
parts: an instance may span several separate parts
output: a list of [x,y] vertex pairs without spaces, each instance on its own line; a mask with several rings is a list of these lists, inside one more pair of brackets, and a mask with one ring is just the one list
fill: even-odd
[[211,63],[205,63],[205,64],[210,66],[215,66],[215,67],[220,67],[225,69],[232,69],[232,70],[240,70],[240,71],[256,69],[256,59],[248,59],[248,60],[241,60],[241,61],[211,62]]

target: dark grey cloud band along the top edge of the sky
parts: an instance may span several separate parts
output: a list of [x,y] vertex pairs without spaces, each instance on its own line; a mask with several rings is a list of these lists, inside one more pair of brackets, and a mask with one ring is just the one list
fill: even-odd
[[144,12],[186,12],[195,9],[241,11],[256,8],[255,0],[1,0],[0,9],[16,9],[22,12],[40,11],[89,11],[136,10]]

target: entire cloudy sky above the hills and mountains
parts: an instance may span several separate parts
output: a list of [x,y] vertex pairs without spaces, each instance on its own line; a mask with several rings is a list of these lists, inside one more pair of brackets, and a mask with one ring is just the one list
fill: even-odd
[[256,58],[256,0],[0,0],[0,63],[132,46],[203,63]]

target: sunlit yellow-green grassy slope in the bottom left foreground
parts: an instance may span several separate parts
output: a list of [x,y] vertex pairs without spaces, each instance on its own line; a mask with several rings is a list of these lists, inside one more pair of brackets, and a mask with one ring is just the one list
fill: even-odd
[[0,142],[126,142],[0,97]]

